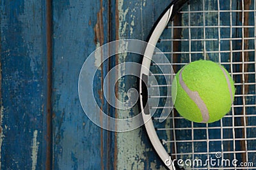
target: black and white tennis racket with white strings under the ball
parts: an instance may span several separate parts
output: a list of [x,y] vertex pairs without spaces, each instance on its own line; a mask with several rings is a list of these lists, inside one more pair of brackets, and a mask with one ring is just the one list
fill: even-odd
[[[166,168],[256,168],[255,25],[256,0],[175,0],[152,27],[141,64],[140,109]],[[175,73],[199,59],[220,63],[235,81],[230,112],[212,124],[180,117],[170,96]]]

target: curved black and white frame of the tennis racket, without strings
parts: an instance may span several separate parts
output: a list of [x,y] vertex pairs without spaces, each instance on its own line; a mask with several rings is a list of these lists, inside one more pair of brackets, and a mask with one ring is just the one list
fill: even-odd
[[154,149],[157,154],[163,160],[164,164],[168,169],[175,170],[179,167],[174,166],[174,162],[171,160],[170,155],[166,152],[164,146],[162,145],[160,139],[157,136],[156,129],[154,127],[149,106],[148,106],[148,92],[147,92],[147,80],[150,70],[150,64],[152,56],[154,54],[154,47],[156,46],[159,38],[166,28],[168,22],[179,12],[184,4],[188,3],[188,0],[173,1],[168,5],[168,7],[163,11],[161,16],[158,18],[152,30],[150,36],[148,36],[148,44],[145,48],[145,53],[142,60],[141,72],[140,72],[140,109],[143,117],[143,122],[145,129],[148,134]]

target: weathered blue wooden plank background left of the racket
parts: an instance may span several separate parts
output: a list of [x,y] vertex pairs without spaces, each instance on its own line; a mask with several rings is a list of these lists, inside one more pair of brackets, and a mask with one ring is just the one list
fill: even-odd
[[[163,169],[143,128],[109,132],[86,117],[77,81],[97,47],[115,39],[145,40],[169,3],[2,0],[1,169]],[[139,59],[113,57],[99,77],[129,60]],[[118,98],[136,83],[118,81]],[[100,107],[124,115],[107,106],[101,88],[95,84]]]

